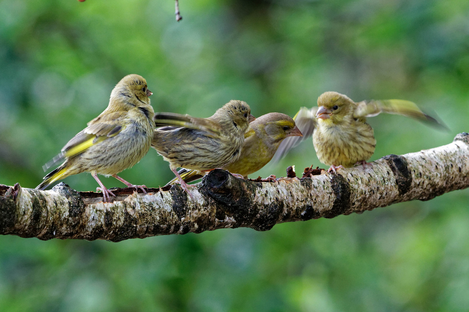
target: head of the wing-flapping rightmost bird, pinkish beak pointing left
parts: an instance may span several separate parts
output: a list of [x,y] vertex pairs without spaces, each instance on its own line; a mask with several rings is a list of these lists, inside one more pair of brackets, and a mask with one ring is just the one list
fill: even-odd
[[356,103],[346,95],[329,91],[318,97],[316,117],[319,122],[340,124],[347,116],[352,116]]

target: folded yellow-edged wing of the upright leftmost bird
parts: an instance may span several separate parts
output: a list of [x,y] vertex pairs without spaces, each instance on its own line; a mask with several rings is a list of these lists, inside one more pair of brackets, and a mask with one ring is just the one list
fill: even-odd
[[44,171],[60,162],[65,157],[73,157],[81,154],[91,146],[119,134],[125,128],[122,120],[122,116],[124,115],[125,112],[113,112],[105,116],[99,115],[97,118],[91,120],[86,128],[65,144],[59,155],[55,156],[50,162],[43,166]]

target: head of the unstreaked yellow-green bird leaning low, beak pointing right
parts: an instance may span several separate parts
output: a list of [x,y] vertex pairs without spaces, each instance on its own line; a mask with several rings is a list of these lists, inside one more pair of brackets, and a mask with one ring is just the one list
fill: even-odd
[[274,112],[262,115],[251,123],[251,127],[253,129],[256,127],[261,128],[261,133],[265,133],[268,140],[273,144],[280,144],[283,139],[289,136],[303,136],[295,125],[295,120],[282,113]]

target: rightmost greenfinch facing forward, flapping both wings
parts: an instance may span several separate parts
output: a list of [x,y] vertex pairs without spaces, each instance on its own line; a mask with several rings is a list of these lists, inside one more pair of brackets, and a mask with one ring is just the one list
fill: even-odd
[[[302,107],[295,116],[295,122],[303,138],[313,136],[314,149],[321,163],[329,165],[327,172],[356,164],[368,164],[376,147],[373,128],[366,123],[366,117],[381,112],[408,116],[435,126],[439,122],[424,114],[415,103],[405,100],[372,100],[354,102],[337,92],[325,92],[318,97],[318,107]],[[297,138],[283,141],[276,159],[299,143]]]

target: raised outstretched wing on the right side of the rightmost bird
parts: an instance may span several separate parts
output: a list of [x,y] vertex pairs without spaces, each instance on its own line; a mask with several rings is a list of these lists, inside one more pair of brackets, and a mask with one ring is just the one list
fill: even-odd
[[434,119],[433,117],[421,111],[418,108],[417,104],[406,100],[393,99],[362,101],[357,103],[357,107],[354,112],[354,117],[374,117],[379,115],[381,112],[407,116],[420,121],[428,122],[433,126],[446,127],[442,125],[437,119]]

